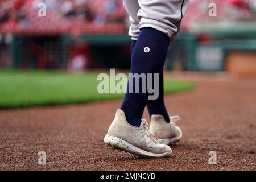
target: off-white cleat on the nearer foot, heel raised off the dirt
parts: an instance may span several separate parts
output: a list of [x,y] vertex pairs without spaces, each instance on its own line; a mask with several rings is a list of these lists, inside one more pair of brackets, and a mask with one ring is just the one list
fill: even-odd
[[142,119],[141,126],[132,126],[121,109],[117,110],[104,142],[118,150],[146,158],[164,158],[172,154],[169,146],[159,143],[158,138],[150,133],[146,119]]

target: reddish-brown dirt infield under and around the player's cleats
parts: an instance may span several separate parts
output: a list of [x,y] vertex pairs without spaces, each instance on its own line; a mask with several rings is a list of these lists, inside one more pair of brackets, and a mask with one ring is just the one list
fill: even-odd
[[[255,170],[256,79],[170,76],[197,82],[195,90],[166,96],[184,134],[171,158],[137,159],[105,148],[119,100],[0,110],[0,169]],[[39,151],[46,166],[38,164]],[[208,163],[209,151],[217,152],[217,165]]]

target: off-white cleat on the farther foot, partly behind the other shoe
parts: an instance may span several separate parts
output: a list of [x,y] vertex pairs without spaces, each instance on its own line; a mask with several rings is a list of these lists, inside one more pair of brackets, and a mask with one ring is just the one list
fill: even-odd
[[176,144],[182,138],[180,127],[176,122],[180,120],[179,116],[170,117],[170,123],[167,123],[162,115],[151,115],[150,132],[158,137],[159,143]]

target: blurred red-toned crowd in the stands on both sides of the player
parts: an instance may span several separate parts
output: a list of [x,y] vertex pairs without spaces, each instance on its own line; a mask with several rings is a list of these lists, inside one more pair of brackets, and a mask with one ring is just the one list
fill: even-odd
[[[0,25],[35,25],[39,3],[46,5],[46,21],[53,24],[61,20],[129,24],[122,0],[0,0]],[[217,19],[208,16],[209,3],[217,4]],[[194,22],[204,19],[255,20],[255,13],[256,0],[190,0],[181,28],[188,30]]]

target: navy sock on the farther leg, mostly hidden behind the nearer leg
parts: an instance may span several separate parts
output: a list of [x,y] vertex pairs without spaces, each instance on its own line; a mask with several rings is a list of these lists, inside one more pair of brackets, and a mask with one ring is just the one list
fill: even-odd
[[[131,42],[131,53],[133,53],[133,49],[135,47],[136,40],[132,40]],[[170,122],[170,117],[168,111],[166,110],[166,105],[164,104],[164,84],[163,84],[163,71],[159,73],[159,97],[156,100],[148,100],[147,101],[147,109],[150,116],[152,114],[160,114],[164,117],[166,122]],[[138,123],[138,118],[131,120],[131,125],[133,123]]]

